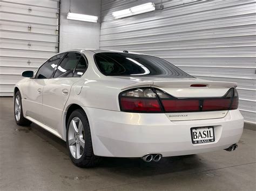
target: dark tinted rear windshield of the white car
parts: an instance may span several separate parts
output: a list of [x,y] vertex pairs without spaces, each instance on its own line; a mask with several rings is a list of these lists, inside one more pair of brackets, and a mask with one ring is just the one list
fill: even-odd
[[193,78],[170,62],[149,55],[104,52],[95,54],[95,62],[106,76]]

